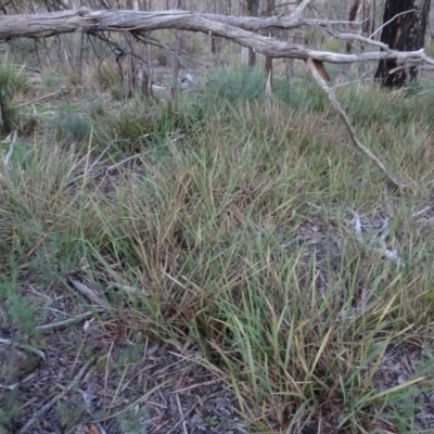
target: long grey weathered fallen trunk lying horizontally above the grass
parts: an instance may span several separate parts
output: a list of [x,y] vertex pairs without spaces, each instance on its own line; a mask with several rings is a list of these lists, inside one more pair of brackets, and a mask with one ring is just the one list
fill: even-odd
[[[311,50],[305,46],[280,41],[255,33],[271,27],[294,28],[311,23],[319,25],[321,21],[303,18],[302,12],[304,9],[301,7],[306,7],[308,3],[308,1],[301,3],[296,9],[297,13],[268,18],[202,14],[182,10],[154,12],[91,11],[88,8],[36,15],[1,15],[0,39],[43,38],[76,31],[87,34],[99,31],[142,34],[149,30],[170,28],[206,34],[212,31],[213,35],[231,39],[237,43],[275,59],[292,58],[305,61],[314,59],[322,62],[346,64],[395,59],[398,63],[410,62],[411,65],[427,64],[434,67],[434,60],[429,58],[423,49],[405,52],[383,50],[359,54],[343,54]],[[327,22],[324,21],[323,23],[326,26]],[[339,36],[339,34],[336,35]],[[343,35],[344,38],[350,37],[347,34]],[[354,35],[354,38],[360,40],[358,35]],[[378,46],[378,42],[369,38],[363,38],[363,41]]]

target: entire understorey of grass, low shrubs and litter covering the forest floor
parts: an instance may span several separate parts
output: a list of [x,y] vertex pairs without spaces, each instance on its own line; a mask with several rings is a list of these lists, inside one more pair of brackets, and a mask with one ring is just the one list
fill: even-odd
[[[53,64],[35,80],[14,43],[0,62],[11,125],[0,158],[0,337],[11,344],[1,433],[30,422],[168,432],[151,416],[171,380],[135,390],[145,360],[197,383],[189,414],[210,399],[203,372],[230,394],[237,417],[202,410],[215,432],[432,432],[432,77],[335,88],[399,189],[353,146],[298,63],[291,81],[275,67],[271,98],[260,67],[204,69],[175,107],[166,90],[128,95],[108,63],[82,76]],[[25,361],[10,363],[12,352]],[[82,390],[82,366],[101,375],[106,401],[91,411],[81,399],[77,416],[66,388],[50,390],[48,416],[33,420],[44,403],[26,404],[36,393],[26,381],[62,365],[58,353],[71,371],[56,381]]]

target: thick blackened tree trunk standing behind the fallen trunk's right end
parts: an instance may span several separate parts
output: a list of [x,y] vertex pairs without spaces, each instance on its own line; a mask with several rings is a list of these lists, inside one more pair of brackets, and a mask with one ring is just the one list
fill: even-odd
[[[386,0],[384,26],[381,41],[393,50],[414,51],[423,48],[431,0]],[[408,11],[408,12],[407,12]],[[417,77],[416,67],[403,67],[392,74],[390,71],[399,66],[396,60],[380,61],[375,78],[383,86],[399,88]]]

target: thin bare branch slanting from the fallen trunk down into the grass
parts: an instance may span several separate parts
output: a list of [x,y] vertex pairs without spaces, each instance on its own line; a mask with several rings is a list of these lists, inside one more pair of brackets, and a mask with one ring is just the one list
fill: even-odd
[[348,119],[348,116],[344,112],[344,108],[342,108],[341,104],[339,103],[336,95],[334,94],[334,90],[328,86],[328,84],[322,79],[321,75],[319,74],[318,69],[315,66],[315,63],[311,59],[307,61],[307,65],[309,66],[310,72],[312,73],[314,78],[317,80],[318,85],[321,86],[321,88],[324,90],[327,95],[329,97],[330,102],[332,103],[334,110],[339,113],[341,116],[342,120],[344,122],[348,132],[349,137],[353,141],[353,143],[365,155],[368,156],[369,159],[371,159],[380,169],[385,174],[385,176],[388,178],[388,180],[399,189],[404,189],[407,187],[406,184],[399,182],[397,179],[395,179],[394,176],[392,176],[384,164],[368,149],[366,148],[360,140],[357,138],[356,130],[354,129],[352,123]]

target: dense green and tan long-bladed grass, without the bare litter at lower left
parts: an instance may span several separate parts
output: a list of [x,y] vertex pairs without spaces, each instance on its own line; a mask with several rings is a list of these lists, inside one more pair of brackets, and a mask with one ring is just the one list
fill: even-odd
[[[340,91],[363,142],[410,183],[396,192],[312,84],[282,87],[267,115],[265,77],[243,74],[210,78],[175,114],[92,105],[93,135],[71,118],[59,143],[2,165],[2,306],[29,333],[47,312],[17,303],[23,282],[77,302],[74,276],[113,321],[225,379],[260,432],[414,432],[432,362],[382,375],[394,352],[432,345],[434,95]],[[78,133],[79,151],[63,145]]]

